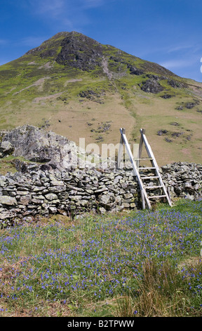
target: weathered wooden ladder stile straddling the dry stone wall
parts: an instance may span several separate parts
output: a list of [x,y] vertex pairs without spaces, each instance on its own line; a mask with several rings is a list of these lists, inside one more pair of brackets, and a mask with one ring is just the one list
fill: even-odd
[[[142,209],[145,209],[146,205],[147,208],[152,209],[152,204],[151,204],[151,200],[152,199],[161,199],[161,198],[166,198],[168,201],[169,206],[172,206],[171,201],[170,201],[170,196],[169,196],[169,192],[167,192],[166,187],[163,183],[163,180],[161,178],[161,173],[159,171],[159,166],[156,163],[156,159],[154,157],[154,154],[152,152],[152,148],[149,145],[148,141],[147,141],[147,137],[145,136],[145,130],[144,129],[140,129],[140,144],[139,144],[139,151],[138,151],[138,158],[134,158],[132,151],[130,149],[130,145],[128,144],[128,139],[126,138],[126,130],[121,128],[120,129],[121,132],[121,141],[120,141],[120,145],[119,145],[119,154],[118,154],[118,162],[117,162],[117,168],[120,167],[120,163],[121,163],[121,156],[123,154],[123,144],[125,144],[126,146],[126,151],[128,153],[128,156],[130,158],[130,162],[133,165],[133,172],[134,175],[137,178],[137,182],[138,185],[140,187],[140,194],[141,194],[141,199],[142,199]],[[142,147],[143,145],[145,146],[145,149],[147,151],[147,158],[141,158],[142,155]],[[150,161],[152,163],[152,166],[149,167],[140,167],[140,161]],[[154,170],[155,171],[155,175],[152,176],[147,176],[144,175],[141,176],[140,175],[140,170]],[[159,183],[157,185],[152,185],[152,186],[145,186],[144,185],[144,180],[158,180]],[[161,195],[150,195],[149,196],[149,192],[151,192],[152,189],[161,189],[162,190],[162,194]],[[147,193],[147,190],[149,191]]]

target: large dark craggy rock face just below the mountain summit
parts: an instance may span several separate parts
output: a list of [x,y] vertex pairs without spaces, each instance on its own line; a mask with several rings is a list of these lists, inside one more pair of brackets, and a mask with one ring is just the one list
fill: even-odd
[[102,45],[94,39],[76,32],[69,33],[61,43],[56,62],[80,70],[93,70],[102,63]]

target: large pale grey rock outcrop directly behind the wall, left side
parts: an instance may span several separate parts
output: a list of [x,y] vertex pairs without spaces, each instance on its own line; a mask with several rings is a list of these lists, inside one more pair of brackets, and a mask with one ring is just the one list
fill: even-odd
[[[75,142],[33,125],[22,125],[6,132],[0,144],[0,157],[8,154],[22,156],[33,162],[48,163],[53,167],[55,165],[55,168],[60,169],[77,168],[78,165],[82,167],[84,163],[87,167],[93,167],[93,164],[86,161],[85,151],[76,146]],[[96,157],[99,162],[99,156]]]

